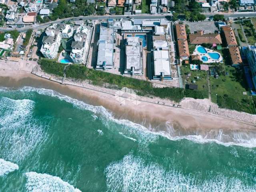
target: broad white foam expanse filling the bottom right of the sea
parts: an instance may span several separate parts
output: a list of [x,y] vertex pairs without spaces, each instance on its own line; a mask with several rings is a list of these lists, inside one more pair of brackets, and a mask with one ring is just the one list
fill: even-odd
[[106,184],[109,192],[253,192],[256,185],[246,186],[237,178],[225,176],[198,180],[185,176],[174,169],[166,171],[156,163],[146,164],[132,154],[118,162],[113,162],[105,169]]

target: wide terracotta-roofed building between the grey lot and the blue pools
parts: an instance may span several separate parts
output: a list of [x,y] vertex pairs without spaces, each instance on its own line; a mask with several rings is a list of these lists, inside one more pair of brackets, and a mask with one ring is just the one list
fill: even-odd
[[220,34],[204,34],[203,31],[197,31],[196,34],[189,34],[190,44],[222,44]]

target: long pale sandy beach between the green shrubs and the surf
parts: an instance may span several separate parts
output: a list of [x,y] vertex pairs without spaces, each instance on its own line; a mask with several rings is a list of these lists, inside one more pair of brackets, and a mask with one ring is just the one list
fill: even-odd
[[[137,97],[136,99],[140,100],[139,104],[127,100],[125,104],[122,104],[115,96],[115,92],[118,90],[68,80],[65,80],[65,83],[76,86],[63,85],[45,79],[49,78],[48,74],[42,74],[42,72],[38,74],[45,78],[31,74],[35,66],[36,64],[21,66],[21,63],[7,66],[6,63],[0,62],[0,86],[13,88],[31,86],[55,90],[88,104],[103,106],[112,112],[115,118],[128,119],[145,126],[150,131],[164,132],[170,136],[201,135],[202,137],[216,138],[220,132],[222,134],[237,133],[240,136],[245,134],[248,138],[254,138],[256,135],[255,115],[218,109],[218,106],[214,106],[208,100],[196,101],[186,98],[180,102],[181,106],[178,108],[172,107],[174,102],[160,98]],[[51,80],[58,78],[50,77]],[[61,79],[57,80],[61,81]],[[210,112],[207,107],[209,104],[212,105]],[[227,140],[229,139],[227,138]],[[230,140],[232,141],[232,139]]]

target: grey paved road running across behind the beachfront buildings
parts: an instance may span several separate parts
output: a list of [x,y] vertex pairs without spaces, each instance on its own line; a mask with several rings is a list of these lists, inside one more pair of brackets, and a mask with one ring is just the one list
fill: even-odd
[[[203,13],[206,18],[209,18],[209,16],[213,16],[215,15],[216,13]],[[224,14],[224,17],[225,18],[228,18],[228,17],[256,17],[256,12],[238,12],[238,13],[219,13],[219,14]],[[166,18],[166,16],[172,16],[172,14],[164,14],[164,15],[150,15],[150,14],[147,14],[147,15],[130,15],[131,18],[134,18],[134,19],[148,19],[148,18],[152,18],[152,19],[157,19],[157,18]],[[123,19],[128,19],[126,18],[127,15],[112,15],[112,16],[79,16],[79,17],[72,17],[72,18],[64,18],[64,19],[58,19],[56,21],[50,21],[50,22],[47,22],[47,23],[44,23],[44,24],[34,24],[32,26],[28,26],[28,27],[25,27],[25,28],[20,28],[20,29],[17,29],[18,31],[20,32],[25,32],[26,30],[32,28],[32,29],[44,29],[46,27],[48,27],[50,24],[56,24],[56,23],[61,23],[63,21],[77,21],[77,20],[101,20],[101,19],[109,19],[109,18],[114,18],[114,19],[120,19],[120,18],[123,18]],[[10,30],[13,30],[12,28],[0,28],[0,31],[10,31]]]

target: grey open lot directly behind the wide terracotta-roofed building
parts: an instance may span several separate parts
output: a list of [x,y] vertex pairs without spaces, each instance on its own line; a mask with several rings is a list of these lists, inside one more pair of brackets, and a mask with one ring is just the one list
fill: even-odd
[[214,33],[215,30],[218,30],[214,21],[204,21],[204,22],[187,22],[190,32],[194,33],[198,30],[204,30],[205,33]]

